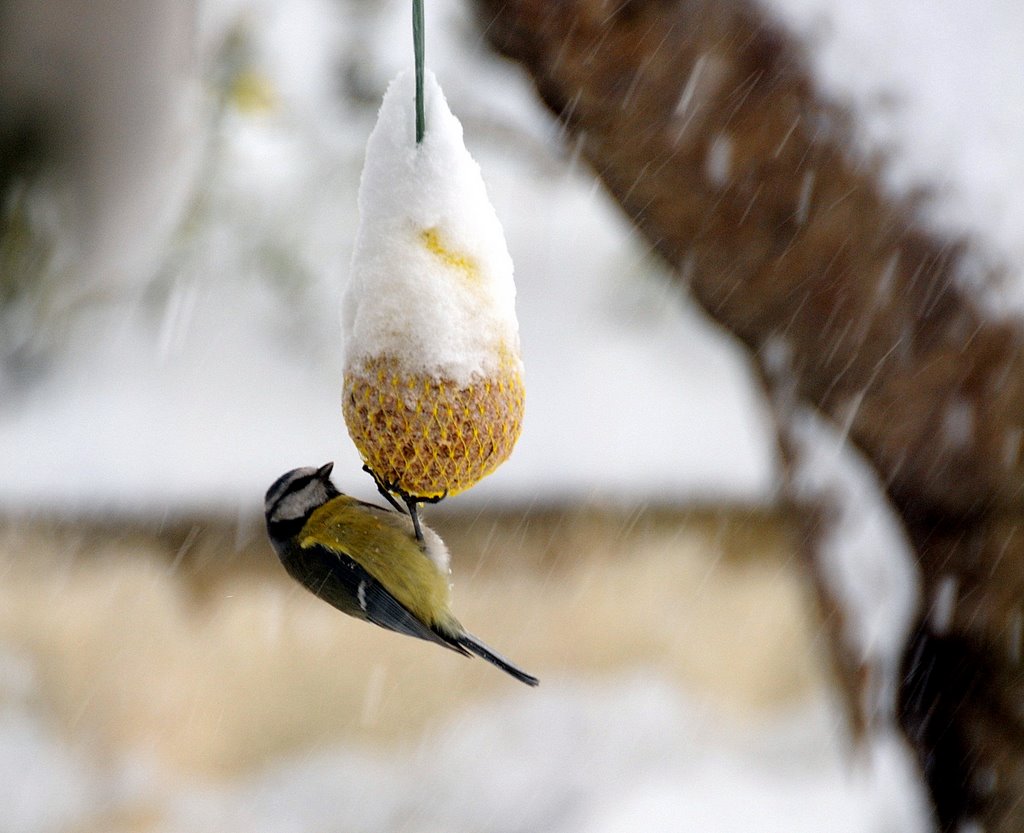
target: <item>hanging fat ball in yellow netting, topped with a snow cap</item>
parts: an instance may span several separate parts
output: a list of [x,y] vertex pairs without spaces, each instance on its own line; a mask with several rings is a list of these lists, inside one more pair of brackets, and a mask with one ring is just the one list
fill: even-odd
[[375,475],[457,494],[504,462],[524,387],[512,258],[462,125],[432,73],[416,142],[415,77],[391,82],[367,144],[342,302],[343,411]]

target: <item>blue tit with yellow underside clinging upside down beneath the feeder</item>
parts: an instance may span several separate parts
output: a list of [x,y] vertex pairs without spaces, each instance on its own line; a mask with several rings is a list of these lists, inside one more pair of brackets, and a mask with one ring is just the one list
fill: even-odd
[[539,680],[468,633],[449,610],[449,552],[409,515],[365,503],[331,482],[333,463],[296,468],[266,493],[266,530],[288,574],[342,613],[475,654],[527,685]]

